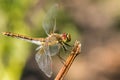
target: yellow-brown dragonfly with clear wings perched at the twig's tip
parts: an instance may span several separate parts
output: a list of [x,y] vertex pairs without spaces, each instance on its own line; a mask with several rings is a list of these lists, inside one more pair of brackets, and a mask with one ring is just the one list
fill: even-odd
[[32,38],[21,34],[2,32],[3,35],[22,39],[38,45],[36,48],[37,53],[35,54],[35,60],[46,76],[52,76],[52,59],[59,53],[60,48],[67,50],[67,46],[70,46],[68,42],[71,41],[71,35],[69,33],[58,34],[55,33],[56,29],[56,12],[58,4],[53,5],[47,12],[42,26],[47,34],[46,38]]

